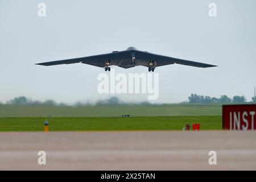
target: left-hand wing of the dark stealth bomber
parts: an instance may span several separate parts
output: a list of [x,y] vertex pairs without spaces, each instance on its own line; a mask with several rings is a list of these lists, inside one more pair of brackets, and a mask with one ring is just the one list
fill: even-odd
[[96,56],[88,56],[88,57],[80,57],[75,59],[66,59],[60,61],[50,61],[45,63],[38,63],[38,65],[51,66],[51,65],[59,65],[59,64],[73,64],[73,63],[84,63],[89,65],[94,65],[96,67],[104,67],[106,60],[111,60],[110,65],[112,63],[121,61],[123,59],[130,59],[130,53],[127,51],[119,51],[113,53],[105,53],[102,55]]

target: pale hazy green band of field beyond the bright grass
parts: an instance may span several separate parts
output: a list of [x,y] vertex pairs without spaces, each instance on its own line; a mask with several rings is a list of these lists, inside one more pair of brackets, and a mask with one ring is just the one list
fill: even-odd
[[44,106],[0,105],[0,117],[133,117],[173,115],[221,115],[221,105],[96,105],[96,106]]

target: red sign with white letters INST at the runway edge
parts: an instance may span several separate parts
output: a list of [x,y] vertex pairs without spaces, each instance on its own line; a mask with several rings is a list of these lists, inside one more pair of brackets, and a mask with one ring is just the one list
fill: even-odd
[[256,130],[256,105],[222,106],[222,128],[225,130]]

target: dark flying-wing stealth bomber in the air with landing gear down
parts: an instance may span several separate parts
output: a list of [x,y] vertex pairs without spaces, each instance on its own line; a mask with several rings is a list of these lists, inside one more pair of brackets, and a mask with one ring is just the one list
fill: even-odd
[[129,47],[126,49],[126,51],[113,51],[112,53],[105,53],[96,56],[38,63],[38,65],[51,66],[73,63],[90,64],[96,67],[105,68],[105,71],[110,71],[111,65],[116,65],[125,69],[136,66],[144,66],[148,67],[149,72],[154,72],[156,67],[161,67],[168,64],[183,64],[200,68],[217,67],[216,65],[199,63],[195,61],[187,61],[182,59],[176,59],[174,57],[156,55],[154,53],[149,53],[146,51],[139,51],[135,47]]

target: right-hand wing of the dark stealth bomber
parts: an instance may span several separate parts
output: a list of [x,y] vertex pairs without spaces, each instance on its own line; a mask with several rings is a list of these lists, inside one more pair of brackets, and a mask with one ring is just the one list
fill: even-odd
[[139,57],[139,59],[156,61],[156,67],[161,67],[163,65],[168,65],[168,64],[183,64],[183,65],[199,67],[199,68],[217,67],[216,65],[199,63],[196,61],[188,61],[183,59],[176,59],[174,57],[156,55],[154,53],[143,52],[143,51],[137,51],[136,56]]

